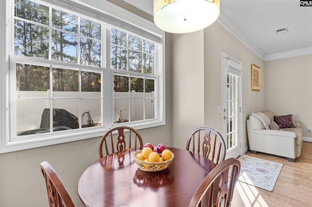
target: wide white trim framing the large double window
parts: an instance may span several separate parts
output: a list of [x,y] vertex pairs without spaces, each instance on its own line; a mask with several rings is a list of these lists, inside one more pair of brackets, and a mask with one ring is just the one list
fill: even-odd
[[[34,0],[36,1],[36,0]],[[55,5],[59,5],[60,2],[69,2],[68,0],[43,0],[48,3],[52,3]],[[151,33],[159,35],[162,40],[162,46],[158,49],[158,52],[162,52],[162,56],[159,56],[159,59],[156,59],[155,65],[162,68],[158,71],[158,82],[156,83],[158,86],[158,90],[160,93],[157,95],[157,104],[159,113],[157,114],[156,120],[151,121],[134,121],[130,122],[128,125],[134,127],[136,129],[143,129],[148,127],[155,127],[159,125],[165,124],[165,33],[159,30],[153,22],[150,22],[142,17],[138,17],[133,13],[126,11],[110,2],[107,1],[98,1],[98,0],[73,0],[72,2],[83,3],[87,5],[88,8],[102,8],[100,11],[107,13],[107,14],[114,14],[115,17],[120,19],[127,19],[127,21],[132,22],[135,25],[138,25],[141,28],[145,28]],[[7,5],[12,3],[12,0],[4,0],[0,1],[0,27],[3,28],[0,30],[0,47],[3,49],[0,51],[0,154],[1,153],[8,153],[18,150],[25,150],[30,148],[42,147],[47,145],[59,144],[69,141],[76,141],[86,138],[96,138],[101,137],[104,133],[108,130],[104,127],[92,127],[92,130],[84,130],[84,129],[77,129],[77,130],[70,130],[70,131],[60,131],[53,133],[54,136],[43,135],[40,138],[36,138],[33,140],[29,139],[18,139],[18,140],[11,140],[10,141],[10,94],[9,94],[9,55],[8,55],[8,47],[10,47],[10,43],[7,43],[9,30],[13,30],[11,25],[11,12],[7,11]],[[14,1],[13,1],[14,4]],[[68,9],[71,9],[71,5],[67,4]],[[84,15],[84,14],[82,14]],[[109,37],[106,37],[106,39]],[[157,50],[156,50],[157,51]],[[106,54],[110,55],[110,54]],[[107,58],[107,57],[106,57]],[[109,63],[104,64],[109,65]],[[107,67],[106,67],[107,68]],[[113,76],[113,70],[106,70],[109,71],[107,74],[103,74],[104,76]],[[104,71],[105,72],[105,71]],[[104,73],[103,72],[103,73]],[[107,83],[110,84],[110,83]],[[104,91],[104,99],[108,98],[112,100],[112,92],[113,91]],[[161,94],[161,96],[159,96]],[[103,108],[103,113],[107,113],[107,107]],[[111,111],[113,117],[113,111]],[[103,124],[105,124],[106,120],[103,117]],[[114,124],[113,127],[118,126],[120,124]],[[90,132],[92,131],[92,132]]]

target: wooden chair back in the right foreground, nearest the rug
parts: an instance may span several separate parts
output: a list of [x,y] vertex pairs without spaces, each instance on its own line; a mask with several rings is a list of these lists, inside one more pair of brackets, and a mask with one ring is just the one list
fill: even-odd
[[[230,207],[239,172],[239,160],[235,158],[224,160],[202,181],[189,207],[198,207],[204,203],[207,203],[208,207]],[[203,197],[207,195],[206,193],[208,193],[208,200],[204,201]]]

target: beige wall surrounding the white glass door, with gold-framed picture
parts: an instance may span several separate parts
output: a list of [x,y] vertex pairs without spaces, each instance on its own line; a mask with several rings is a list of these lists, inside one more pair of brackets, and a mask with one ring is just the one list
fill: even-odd
[[206,28],[205,48],[205,125],[221,132],[222,113],[217,113],[221,104],[221,60],[222,52],[242,62],[242,124],[243,146],[248,146],[246,119],[254,111],[264,109],[265,71],[261,70],[261,90],[251,90],[251,64],[264,68],[264,61],[227,32],[218,22]]

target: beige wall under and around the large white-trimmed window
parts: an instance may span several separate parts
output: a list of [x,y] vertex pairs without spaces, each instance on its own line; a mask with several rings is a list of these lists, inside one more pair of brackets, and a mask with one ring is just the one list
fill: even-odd
[[[2,5],[0,8],[5,8],[3,5],[5,1],[0,2],[0,5]],[[91,0],[91,2],[97,4],[99,1]],[[118,4],[122,4],[122,2],[118,1]],[[131,9],[138,15],[143,13],[133,7]],[[143,15],[146,16],[145,13]],[[0,16],[2,17],[4,15]],[[149,16],[149,18],[153,19],[152,16]],[[5,19],[5,17],[2,19]],[[0,46],[2,46],[1,48],[5,48],[2,38],[0,40]],[[170,35],[168,38],[166,35],[166,43],[169,45],[166,47],[165,53],[166,125],[139,130],[143,142],[154,144],[161,142],[168,146],[172,146],[170,38]],[[0,52],[0,55],[3,55],[3,53]],[[1,109],[3,108],[1,106]],[[3,113],[0,112],[0,115],[3,115]],[[77,192],[78,180],[84,170],[98,159],[99,142],[100,138],[90,138],[0,154],[0,207],[48,207],[44,178],[39,170],[39,163],[44,160],[48,161],[57,171],[76,206],[82,207],[83,205],[78,198]]]

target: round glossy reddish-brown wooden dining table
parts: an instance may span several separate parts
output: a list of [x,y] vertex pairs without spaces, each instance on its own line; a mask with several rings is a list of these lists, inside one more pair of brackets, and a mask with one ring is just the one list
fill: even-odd
[[187,206],[215,163],[187,150],[168,149],[175,158],[167,169],[158,172],[138,169],[133,157],[136,149],[102,157],[81,175],[80,200],[87,207]]

